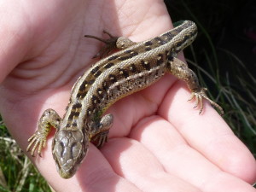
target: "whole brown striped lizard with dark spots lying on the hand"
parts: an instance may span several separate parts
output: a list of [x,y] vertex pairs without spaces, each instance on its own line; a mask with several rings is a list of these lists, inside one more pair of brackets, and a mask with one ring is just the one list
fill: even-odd
[[98,148],[107,142],[113,124],[112,114],[103,115],[108,107],[120,98],[154,84],[165,73],[172,73],[188,85],[192,92],[190,100],[195,98],[195,107],[200,105],[200,113],[203,99],[224,113],[207,97],[207,89],[200,86],[195,73],[176,57],[194,41],[197,35],[195,23],[182,20],[174,25],[172,30],[139,43],[113,37],[108,32],[110,38],[107,40],[85,35],[106,43],[100,56],[108,55],[114,48],[120,50],[97,61],[77,80],[62,119],[53,109],[44,111],[38,121],[38,131],[28,139],[27,151],[32,149],[33,156],[38,149],[40,155],[51,127],[55,127],[52,153],[57,170],[61,177],[72,177],[87,153],[89,142]]

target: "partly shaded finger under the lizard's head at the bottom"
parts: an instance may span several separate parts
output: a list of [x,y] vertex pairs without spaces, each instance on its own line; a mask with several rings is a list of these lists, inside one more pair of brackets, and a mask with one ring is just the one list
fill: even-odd
[[[48,153],[50,152],[47,152],[45,156],[49,157]],[[92,144],[90,144],[90,150],[78,171],[69,179],[60,177],[55,169],[55,162],[52,157],[40,160],[37,165],[39,171],[55,191],[141,192],[133,183],[113,172],[108,161]]]

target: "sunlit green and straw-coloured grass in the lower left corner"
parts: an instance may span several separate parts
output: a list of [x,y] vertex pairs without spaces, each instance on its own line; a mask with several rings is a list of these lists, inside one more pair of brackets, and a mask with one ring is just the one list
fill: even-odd
[[50,191],[30,160],[22,153],[0,119],[0,191]]

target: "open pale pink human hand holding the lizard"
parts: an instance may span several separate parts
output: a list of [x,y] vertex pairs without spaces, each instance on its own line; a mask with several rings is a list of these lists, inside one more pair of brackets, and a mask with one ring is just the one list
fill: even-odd
[[[159,0],[6,0],[0,14],[0,113],[23,151],[44,109],[63,115],[74,82],[96,61],[102,44],[85,34],[142,41],[172,28]],[[207,102],[199,115],[189,94],[166,75],[115,103],[109,142],[90,144],[70,179],[55,170],[53,133],[41,158],[26,154],[56,191],[255,191],[253,155]]]

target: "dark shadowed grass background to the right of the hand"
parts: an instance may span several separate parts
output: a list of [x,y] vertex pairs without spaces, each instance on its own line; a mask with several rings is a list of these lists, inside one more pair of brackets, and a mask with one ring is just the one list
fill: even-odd
[[[255,60],[247,60],[253,57],[248,54],[245,58],[241,51],[250,46],[241,39],[243,27],[249,23],[245,12],[250,10],[251,1],[165,2],[173,21],[194,20],[198,26],[198,38],[184,50],[189,67],[198,74],[201,85],[210,90],[212,99],[224,108],[225,121],[256,157]],[[231,40],[226,40],[230,36]]]

